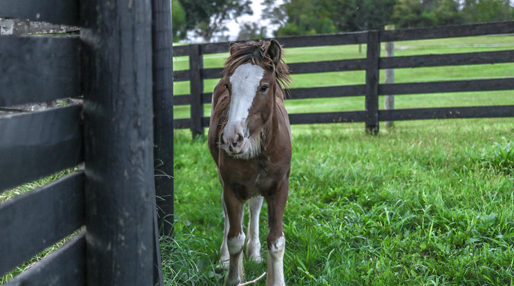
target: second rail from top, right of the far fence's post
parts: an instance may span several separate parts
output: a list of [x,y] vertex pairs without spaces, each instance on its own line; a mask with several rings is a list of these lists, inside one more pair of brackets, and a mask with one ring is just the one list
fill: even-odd
[[380,68],[420,68],[429,66],[461,66],[511,62],[514,62],[514,50],[448,55],[383,57],[379,60],[379,66]]

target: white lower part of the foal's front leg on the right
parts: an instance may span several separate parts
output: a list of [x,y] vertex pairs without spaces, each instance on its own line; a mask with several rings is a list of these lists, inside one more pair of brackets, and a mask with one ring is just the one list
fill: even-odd
[[268,245],[266,286],[285,286],[284,251],[285,237],[282,233],[282,236],[277,238],[274,243]]

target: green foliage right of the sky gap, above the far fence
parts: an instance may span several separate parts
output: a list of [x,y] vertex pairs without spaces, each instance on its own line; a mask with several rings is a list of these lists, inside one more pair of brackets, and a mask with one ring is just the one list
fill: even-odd
[[[277,5],[264,1],[264,17],[280,28],[277,36],[312,35],[327,31],[382,30],[442,26],[460,23],[507,21],[513,19],[509,0],[285,0]],[[332,23],[325,24],[324,21]]]

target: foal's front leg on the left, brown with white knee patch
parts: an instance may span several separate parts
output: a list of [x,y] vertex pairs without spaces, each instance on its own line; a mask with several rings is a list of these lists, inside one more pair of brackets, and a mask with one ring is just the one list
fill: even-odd
[[227,249],[229,251],[229,273],[225,285],[238,285],[242,282],[242,247],[245,233],[242,232],[242,207],[245,202],[234,196],[230,190],[223,190],[223,200],[229,218]]

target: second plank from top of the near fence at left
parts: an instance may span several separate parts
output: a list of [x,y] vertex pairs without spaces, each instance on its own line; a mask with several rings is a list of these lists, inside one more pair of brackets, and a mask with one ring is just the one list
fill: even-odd
[[2,107],[80,93],[78,38],[0,36],[0,62]]

